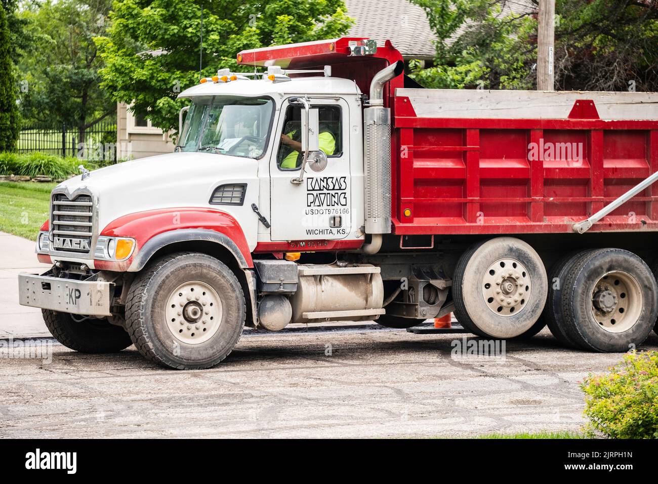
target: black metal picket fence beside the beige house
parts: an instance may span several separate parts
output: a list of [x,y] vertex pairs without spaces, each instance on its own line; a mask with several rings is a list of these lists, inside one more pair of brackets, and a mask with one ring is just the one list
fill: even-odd
[[82,136],[77,126],[66,124],[24,127],[16,151],[75,157],[99,166],[116,163],[116,121],[99,121],[84,130]]

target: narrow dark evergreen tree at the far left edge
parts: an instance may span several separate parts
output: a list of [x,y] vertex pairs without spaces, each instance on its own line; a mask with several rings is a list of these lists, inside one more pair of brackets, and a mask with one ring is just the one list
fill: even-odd
[[7,12],[5,5],[0,4],[0,151],[15,148],[20,128],[12,47]]

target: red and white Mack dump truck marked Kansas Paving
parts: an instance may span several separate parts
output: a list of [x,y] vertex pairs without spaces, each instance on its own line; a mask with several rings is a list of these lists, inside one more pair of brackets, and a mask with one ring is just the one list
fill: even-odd
[[[81,352],[211,367],[243,326],[453,311],[623,352],[656,321],[658,94],[422,89],[390,42],[238,53],[174,153],[59,184],[20,303]],[[653,273],[651,270],[653,267]]]

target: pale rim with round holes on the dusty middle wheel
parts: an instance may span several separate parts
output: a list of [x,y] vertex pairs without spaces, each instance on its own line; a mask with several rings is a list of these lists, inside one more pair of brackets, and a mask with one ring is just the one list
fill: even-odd
[[510,257],[495,261],[482,278],[484,303],[492,313],[502,317],[520,313],[530,300],[531,291],[528,269]]

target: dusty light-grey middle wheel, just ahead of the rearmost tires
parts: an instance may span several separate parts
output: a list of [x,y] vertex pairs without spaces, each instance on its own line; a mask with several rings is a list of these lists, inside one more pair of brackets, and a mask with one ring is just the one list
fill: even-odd
[[470,248],[457,263],[455,316],[476,335],[514,338],[538,321],[547,290],[544,263],[530,245],[493,238]]

